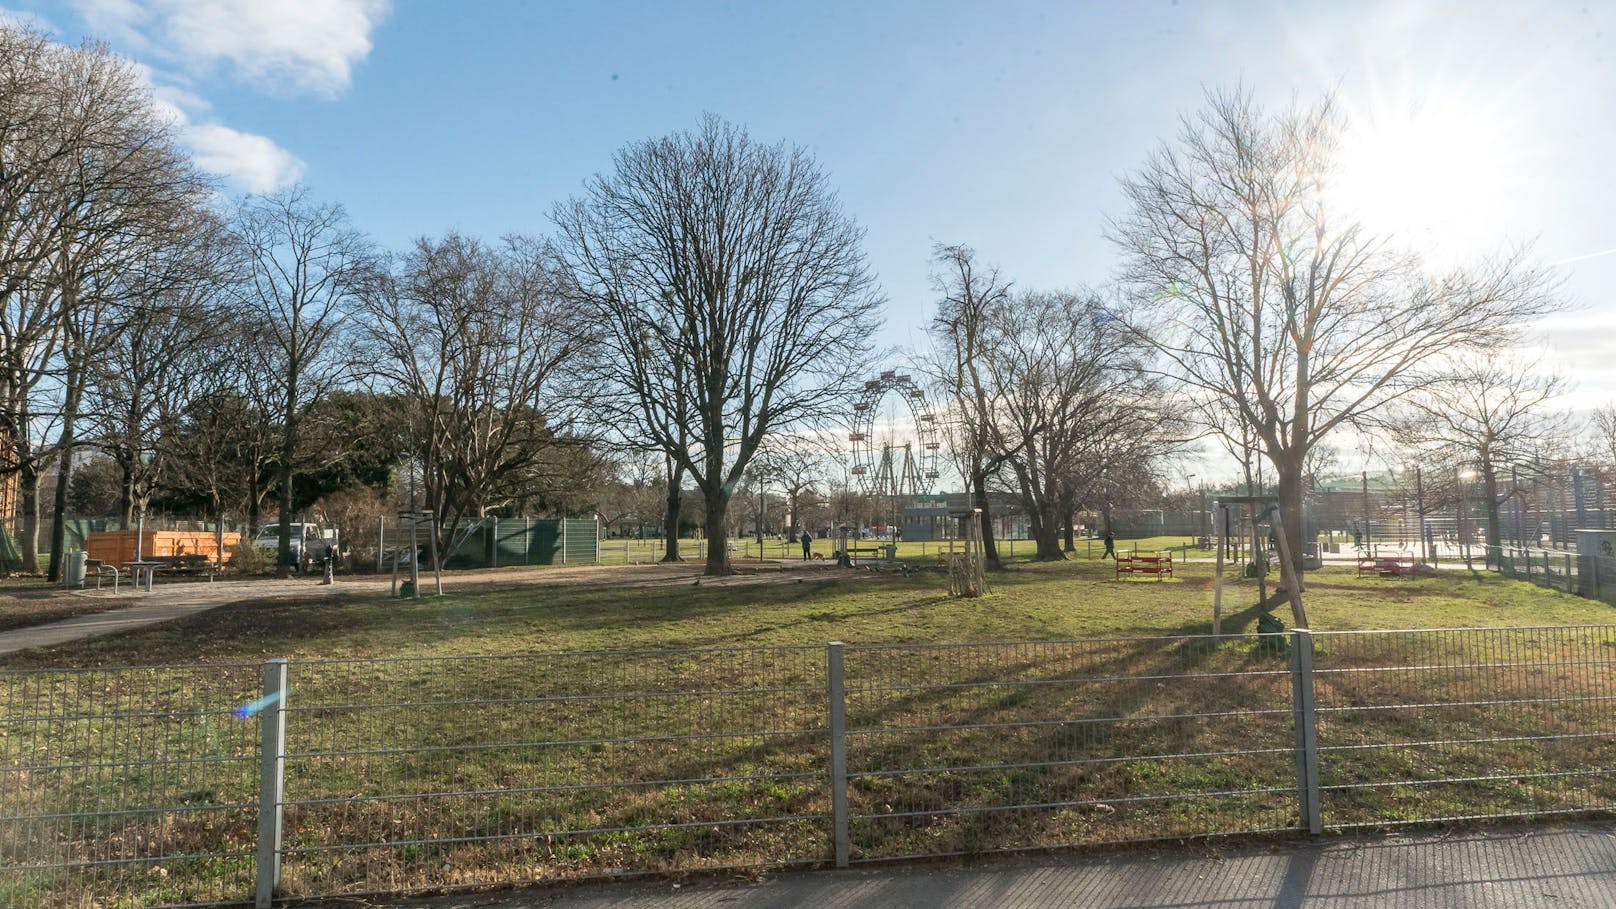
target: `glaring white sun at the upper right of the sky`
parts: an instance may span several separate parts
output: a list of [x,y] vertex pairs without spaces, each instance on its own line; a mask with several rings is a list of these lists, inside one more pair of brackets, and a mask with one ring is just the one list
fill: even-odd
[[1521,142],[1496,113],[1458,100],[1353,112],[1335,180],[1338,205],[1429,259],[1498,246]]

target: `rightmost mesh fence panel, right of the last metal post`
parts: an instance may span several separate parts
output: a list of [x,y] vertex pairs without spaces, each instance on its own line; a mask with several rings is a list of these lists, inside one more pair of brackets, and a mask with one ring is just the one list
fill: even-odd
[[1317,639],[1330,827],[1616,809],[1616,628]]

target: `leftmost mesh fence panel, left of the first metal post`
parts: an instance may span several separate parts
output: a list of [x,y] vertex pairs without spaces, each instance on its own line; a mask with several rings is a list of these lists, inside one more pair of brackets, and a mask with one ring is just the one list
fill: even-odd
[[0,671],[0,906],[252,891],[260,666]]

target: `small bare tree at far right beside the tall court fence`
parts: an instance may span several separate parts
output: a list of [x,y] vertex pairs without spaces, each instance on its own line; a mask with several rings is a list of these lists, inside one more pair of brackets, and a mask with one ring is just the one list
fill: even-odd
[[1504,471],[1535,459],[1571,429],[1569,414],[1555,406],[1566,388],[1561,377],[1530,361],[1466,357],[1441,382],[1411,395],[1391,421],[1398,442],[1437,461],[1475,466],[1488,553],[1503,540],[1500,508],[1521,495]]

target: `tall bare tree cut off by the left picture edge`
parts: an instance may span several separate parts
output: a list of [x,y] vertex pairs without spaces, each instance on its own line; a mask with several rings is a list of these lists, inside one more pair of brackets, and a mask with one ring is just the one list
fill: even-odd
[[[128,60],[5,26],[0,60],[0,433],[23,498],[23,568],[36,569],[40,467],[52,454],[71,467],[100,309],[150,281],[205,186]],[[55,421],[55,448],[39,443],[39,417]],[[60,555],[60,532],[53,542]]]

